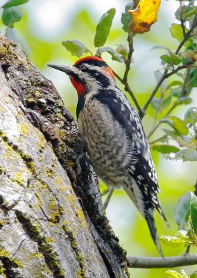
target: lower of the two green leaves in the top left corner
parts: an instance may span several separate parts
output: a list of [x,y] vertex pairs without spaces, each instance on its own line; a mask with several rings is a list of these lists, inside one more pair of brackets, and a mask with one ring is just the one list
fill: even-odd
[[3,10],[2,22],[4,25],[12,28],[15,22],[19,22],[22,18],[22,9],[19,7],[11,7]]

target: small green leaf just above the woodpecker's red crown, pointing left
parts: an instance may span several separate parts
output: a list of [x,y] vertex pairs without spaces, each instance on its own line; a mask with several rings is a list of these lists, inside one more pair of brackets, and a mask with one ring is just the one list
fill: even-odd
[[80,57],[84,53],[87,53],[89,49],[78,40],[65,40],[62,42],[62,45],[71,53],[72,56]]

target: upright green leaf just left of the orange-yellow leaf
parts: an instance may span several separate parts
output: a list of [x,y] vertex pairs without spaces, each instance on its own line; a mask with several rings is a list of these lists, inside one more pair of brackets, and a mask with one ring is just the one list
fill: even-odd
[[112,26],[112,21],[116,10],[111,8],[107,13],[102,15],[99,24],[96,26],[96,34],[94,37],[94,47],[103,47],[105,44],[108,35],[110,33],[110,28]]

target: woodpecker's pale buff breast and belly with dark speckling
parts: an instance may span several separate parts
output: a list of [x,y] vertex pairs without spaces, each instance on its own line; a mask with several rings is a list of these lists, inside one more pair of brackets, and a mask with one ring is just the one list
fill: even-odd
[[130,138],[108,107],[96,99],[85,103],[78,115],[78,127],[96,174],[116,186],[135,156]]

